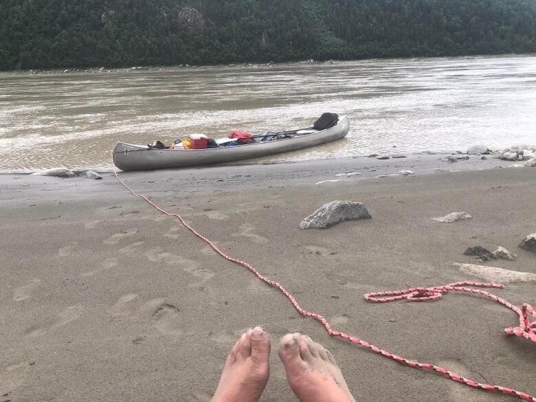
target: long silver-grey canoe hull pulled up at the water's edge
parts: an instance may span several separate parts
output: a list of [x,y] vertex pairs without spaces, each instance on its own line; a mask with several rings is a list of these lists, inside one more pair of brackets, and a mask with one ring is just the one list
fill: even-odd
[[118,142],[113,149],[113,161],[115,166],[125,171],[221,164],[325,144],[345,137],[349,128],[348,118],[339,116],[337,124],[325,130],[285,131],[284,133],[292,133],[293,136],[237,146],[206,149],[157,149]]

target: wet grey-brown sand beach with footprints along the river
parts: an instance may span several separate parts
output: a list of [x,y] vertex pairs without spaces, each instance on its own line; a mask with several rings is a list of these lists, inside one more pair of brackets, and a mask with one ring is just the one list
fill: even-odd
[[[477,263],[463,255],[474,245],[519,255],[487,265],[536,273],[536,254],[517,247],[536,232],[536,170],[493,169],[496,159],[479,158],[335,159],[121,177],[280,281],[338,331],[534,395],[536,347],[502,333],[518,322],[504,306],[458,293],[429,303],[363,299],[371,291],[480,281],[452,266]],[[376,178],[403,169],[416,175]],[[315,184],[350,171],[363,175]],[[299,331],[328,347],[358,401],[516,400],[328,337],[276,289],[216,256],[110,173],[100,181],[0,175],[0,188],[0,401],[209,401],[232,344],[257,324],[274,344]],[[298,229],[334,199],[363,202],[372,219]],[[430,220],[454,211],[473,219]],[[536,304],[534,282],[493,293]],[[261,401],[295,401],[275,351]]]

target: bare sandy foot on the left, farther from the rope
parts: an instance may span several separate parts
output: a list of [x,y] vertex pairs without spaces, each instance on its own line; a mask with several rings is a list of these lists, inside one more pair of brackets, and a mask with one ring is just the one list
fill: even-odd
[[270,339],[256,326],[234,344],[212,402],[257,402],[270,374]]

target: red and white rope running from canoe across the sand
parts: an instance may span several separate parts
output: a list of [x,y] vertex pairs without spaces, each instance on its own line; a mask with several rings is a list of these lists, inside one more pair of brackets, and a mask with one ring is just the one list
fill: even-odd
[[[520,391],[513,390],[512,388],[508,388],[508,387],[504,387],[504,386],[495,386],[495,385],[486,384],[486,383],[479,383],[477,381],[473,381],[471,379],[467,379],[465,377],[462,377],[461,375],[457,375],[455,372],[451,372],[451,371],[447,370],[446,368],[439,367],[439,366],[434,366],[433,364],[419,363],[418,361],[405,359],[404,357],[394,355],[394,353],[390,353],[387,350],[383,350],[383,349],[381,349],[381,348],[379,348],[377,346],[369,344],[368,342],[366,342],[366,341],[364,341],[362,339],[359,339],[358,337],[352,337],[352,336],[350,336],[350,335],[348,335],[346,333],[342,333],[342,332],[339,332],[339,331],[334,331],[331,328],[331,325],[328,323],[328,320],[326,320],[322,315],[320,315],[318,313],[313,313],[313,312],[310,312],[310,311],[306,311],[305,309],[302,309],[300,304],[298,304],[298,301],[295,300],[294,296],[291,295],[291,293],[289,293],[289,291],[287,291],[287,289],[284,289],[282,284],[280,284],[279,282],[276,282],[275,280],[271,280],[271,279],[263,276],[257,269],[255,269],[249,263],[246,263],[245,261],[242,261],[242,260],[238,260],[237,258],[232,258],[231,256],[228,256],[227,254],[222,252],[218,247],[216,247],[216,245],[214,245],[214,243],[212,243],[212,241],[210,241],[208,238],[206,238],[205,236],[203,236],[202,234],[197,232],[197,230],[195,230],[193,227],[188,225],[188,223],[186,223],[186,221],[184,221],[182,216],[180,216],[179,214],[173,214],[172,212],[167,212],[166,210],[160,208],[158,205],[153,203],[153,201],[150,201],[150,199],[148,199],[148,197],[146,197],[144,194],[138,194],[137,192],[134,192],[118,176],[117,168],[115,168],[115,155],[113,153],[112,153],[112,155],[113,155],[113,159],[114,159],[113,160],[113,162],[114,162],[113,173],[114,173],[115,177],[118,179],[118,181],[124,186],[124,188],[126,188],[126,190],[129,190],[129,192],[131,192],[131,194],[133,194],[135,197],[139,197],[139,198],[144,199],[149,205],[151,205],[153,208],[155,208],[155,210],[161,212],[162,214],[165,214],[167,216],[179,219],[179,221],[181,221],[181,223],[188,230],[190,230],[190,232],[192,232],[195,236],[197,236],[202,241],[204,241],[205,243],[210,245],[210,247],[212,247],[212,249],[214,249],[214,251],[217,254],[219,254],[220,256],[225,258],[225,260],[230,261],[230,262],[235,263],[235,264],[238,264],[238,265],[241,265],[241,266],[249,269],[249,271],[252,271],[252,273],[254,273],[254,275],[257,278],[259,278],[263,282],[269,284],[270,286],[276,287],[277,289],[279,289],[281,291],[281,293],[283,293],[287,297],[287,299],[292,303],[292,305],[295,307],[296,310],[298,310],[298,312],[300,314],[304,315],[305,317],[314,318],[318,322],[322,323],[322,325],[324,326],[324,328],[326,328],[326,331],[328,332],[328,334],[330,336],[332,336],[332,337],[340,337],[342,339],[346,339],[348,342],[352,342],[353,344],[364,346],[365,348],[368,348],[368,349],[372,350],[372,352],[374,352],[374,353],[378,353],[379,355],[382,355],[384,357],[388,357],[389,359],[396,360],[399,363],[403,363],[403,364],[405,364],[407,366],[410,366],[412,368],[418,368],[418,369],[421,369],[421,370],[428,370],[428,371],[438,372],[439,374],[444,375],[445,377],[447,377],[447,378],[449,378],[449,379],[451,379],[453,381],[456,381],[458,383],[463,383],[463,384],[465,384],[467,386],[470,386],[470,387],[473,387],[473,388],[478,388],[480,390],[486,390],[486,391],[502,392],[503,394],[511,395],[513,397],[518,397],[520,399],[523,399],[524,401],[536,402],[536,397],[533,397],[530,394],[526,394],[525,392],[520,392]],[[407,290],[403,290],[403,291],[387,291],[387,292],[378,292],[378,293],[368,293],[367,295],[365,295],[365,298],[366,298],[366,300],[369,300],[370,302],[377,302],[377,303],[392,302],[392,301],[395,301],[395,300],[402,300],[402,299],[406,299],[406,300],[408,300],[410,302],[416,302],[416,301],[426,302],[426,301],[429,301],[429,300],[436,300],[436,299],[440,298],[443,295],[443,293],[445,293],[446,291],[465,291],[465,292],[470,292],[470,293],[478,293],[478,294],[487,296],[491,300],[495,300],[496,302],[500,302],[501,304],[504,304],[505,306],[509,307],[510,309],[515,311],[516,313],[520,314],[520,326],[515,327],[515,328],[506,328],[506,330],[504,330],[506,333],[513,334],[513,335],[518,335],[518,336],[523,336],[523,337],[526,337],[527,339],[531,339],[531,340],[536,342],[536,340],[535,340],[535,337],[536,337],[536,335],[535,335],[536,322],[532,322],[532,323],[529,322],[528,316],[527,316],[527,312],[530,312],[536,318],[536,314],[535,314],[535,312],[534,312],[534,310],[533,310],[533,308],[531,306],[529,306],[528,304],[524,304],[523,309],[520,310],[516,306],[513,306],[509,302],[506,302],[506,300],[498,298],[498,296],[495,296],[495,295],[493,295],[493,294],[491,294],[491,293],[489,293],[487,291],[482,291],[482,290],[478,290],[478,289],[471,289],[471,288],[468,288],[468,287],[465,287],[465,286],[493,287],[493,288],[497,288],[497,289],[502,289],[503,288],[502,284],[458,282],[458,283],[454,283],[454,284],[448,284],[448,285],[443,286],[443,287],[440,286],[440,287],[429,287],[429,288],[413,288],[413,289],[407,289]],[[383,298],[383,299],[379,299],[379,298],[375,297],[375,296],[388,296],[388,295],[393,295],[394,297],[392,297],[392,298]]]

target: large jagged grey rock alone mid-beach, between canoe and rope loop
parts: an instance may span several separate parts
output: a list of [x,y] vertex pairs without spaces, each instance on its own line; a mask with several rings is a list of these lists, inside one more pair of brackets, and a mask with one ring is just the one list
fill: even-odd
[[326,229],[343,221],[355,221],[357,219],[370,219],[363,203],[355,201],[331,201],[322,205],[313,214],[309,215],[300,223],[300,229]]

